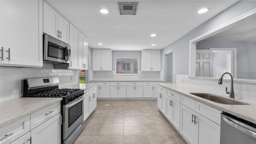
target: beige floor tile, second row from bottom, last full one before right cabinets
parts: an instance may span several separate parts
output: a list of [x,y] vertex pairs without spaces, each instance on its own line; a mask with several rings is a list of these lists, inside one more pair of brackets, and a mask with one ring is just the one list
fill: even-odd
[[149,136],[171,135],[164,124],[145,124]]

